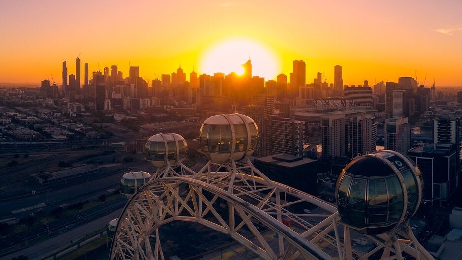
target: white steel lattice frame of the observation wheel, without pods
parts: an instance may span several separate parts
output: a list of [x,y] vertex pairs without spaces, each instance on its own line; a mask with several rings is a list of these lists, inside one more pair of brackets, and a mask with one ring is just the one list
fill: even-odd
[[[319,212],[292,212],[306,203]],[[377,254],[433,260],[407,222],[385,234],[360,235],[342,225],[334,205],[270,180],[249,160],[210,161],[198,173],[184,165],[158,170],[122,211],[109,259],[165,260],[159,227],[173,221],[222,232],[266,260],[367,260]],[[375,243],[368,253],[352,248],[361,237]]]

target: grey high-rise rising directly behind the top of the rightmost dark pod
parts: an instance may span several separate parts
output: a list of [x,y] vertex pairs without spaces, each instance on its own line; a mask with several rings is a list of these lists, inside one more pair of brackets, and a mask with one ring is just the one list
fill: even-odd
[[385,120],[385,149],[407,155],[411,148],[409,118],[388,118]]

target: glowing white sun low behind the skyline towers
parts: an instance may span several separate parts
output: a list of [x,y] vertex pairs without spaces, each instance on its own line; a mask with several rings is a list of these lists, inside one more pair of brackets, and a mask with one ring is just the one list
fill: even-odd
[[199,69],[201,73],[209,75],[216,72],[236,72],[242,75],[242,64],[249,58],[252,62],[252,76],[264,77],[265,80],[276,78],[280,68],[275,55],[264,45],[245,39],[222,41],[208,48],[202,55]]

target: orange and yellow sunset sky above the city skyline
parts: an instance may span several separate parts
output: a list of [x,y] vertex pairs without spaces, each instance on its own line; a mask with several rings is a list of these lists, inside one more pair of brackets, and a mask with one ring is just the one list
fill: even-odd
[[303,60],[307,83],[318,71],[333,82],[341,65],[348,85],[411,76],[462,87],[460,10],[461,0],[0,0],[0,83],[60,85],[62,62],[75,74],[79,56],[81,82],[84,63],[90,74],[117,65],[124,77],[139,65],[151,81],[180,65],[211,74],[216,62],[250,58],[265,80]]

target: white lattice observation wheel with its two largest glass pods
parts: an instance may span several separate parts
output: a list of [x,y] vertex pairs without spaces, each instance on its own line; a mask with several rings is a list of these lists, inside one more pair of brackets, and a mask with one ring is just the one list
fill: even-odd
[[[404,260],[406,256],[433,260],[408,223],[420,203],[421,178],[407,157],[381,151],[355,158],[341,173],[337,202],[331,204],[266,177],[248,157],[252,138],[258,137],[248,127],[253,120],[239,114],[219,116],[228,125],[221,119],[205,120],[209,126],[201,127],[202,152],[210,161],[200,171],[167,166],[169,174],[153,178],[133,194],[117,222],[110,260],[165,260],[159,228],[174,221],[219,231],[266,260]],[[246,126],[243,138],[236,138],[236,124]],[[215,138],[215,130],[231,135]],[[214,144],[226,148],[212,150]],[[237,144],[248,148],[242,151]],[[377,175],[367,171],[368,164],[381,164],[389,171]],[[398,184],[366,193],[382,180],[386,187]],[[353,185],[358,182],[363,186]],[[362,210],[355,204],[357,198],[362,198],[358,200]],[[391,209],[391,217],[380,214]],[[372,248],[358,250],[353,246],[358,240]]]

